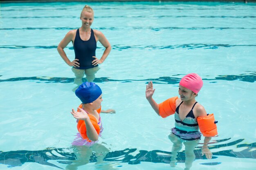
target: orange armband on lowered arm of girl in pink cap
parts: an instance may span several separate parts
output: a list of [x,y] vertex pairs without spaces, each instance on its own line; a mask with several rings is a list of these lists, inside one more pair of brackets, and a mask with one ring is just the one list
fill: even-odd
[[214,137],[218,135],[216,123],[213,114],[207,114],[206,117],[198,117],[198,126],[204,137]]

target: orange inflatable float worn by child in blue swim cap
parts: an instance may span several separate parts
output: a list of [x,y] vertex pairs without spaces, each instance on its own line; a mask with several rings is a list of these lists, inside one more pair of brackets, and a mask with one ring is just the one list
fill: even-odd
[[[82,107],[83,107],[83,106],[82,106],[82,104],[81,104],[81,105],[79,106],[79,108],[82,108]],[[79,110],[77,110],[77,111],[79,111]],[[98,113],[101,113],[101,108],[99,108],[99,109],[97,110],[97,112],[98,112]],[[93,127],[95,128],[97,134],[99,135],[99,132],[101,131],[101,129],[100,129],[99,125],[98,125],[97,119],[96,119],[94,116],[90,115],[90,114],[88,114],[88,116],[89,116],[90,121],[92,122],[92,125],[93,125]],[[85,125],[85,121],[84,121],[84,120],[79,120],[76,127],[77,127],[77,130],[79,131],[81,137],[82,137],[83,139],[88,139],[87,134],[86,134],[86,125]],[[88,140],[89,140],[89,139],[88,139]],[[90,140],[89,140],[89,141],[90,141]]]

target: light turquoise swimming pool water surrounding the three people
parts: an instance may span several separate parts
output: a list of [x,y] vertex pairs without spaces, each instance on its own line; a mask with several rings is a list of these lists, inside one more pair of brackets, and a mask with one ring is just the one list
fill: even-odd
[[[180,78],[192,72],[204,81],[197,101],[215,114],[219,136],[210,144],[213,159],[196,148],[191,170],[254,169],[256,4],[88,3],[92,29],[112,45],[94,82],[103,90],[102,108],[117,112],[102,114],[96,152],[70,148],[77,132],[70,111],[80,101],[56,50],[67,31],[81,26],[84,5],[1,4],[1,170],[76,169],[72,162],[78,169],[169,170],[174,118],[154,113],[146,83],[153,81],[154,99],[162,102],[178,95]],[[66,53],[73,59],[71,44]],[[175,169],[184,169],[184,148]]]

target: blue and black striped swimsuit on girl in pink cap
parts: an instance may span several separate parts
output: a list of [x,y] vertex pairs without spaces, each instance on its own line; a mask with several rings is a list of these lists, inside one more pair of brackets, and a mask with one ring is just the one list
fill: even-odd
[[[180,103],[180,105],[182,103],[183,101]],[[197,104],[197,102],[195,102],[195,104]],[[193,114],[193,108],[195,104],[182,121],[179,116],[180,105],[175,110],[175,128],[172,128],[171,132],[180,139],[193,141],[201,138],[201,133],[198,131],[198,121]]]

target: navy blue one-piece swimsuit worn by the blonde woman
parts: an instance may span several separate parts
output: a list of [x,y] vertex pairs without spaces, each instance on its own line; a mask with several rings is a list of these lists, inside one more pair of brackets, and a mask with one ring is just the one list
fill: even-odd
[[74,67],[78,69],[88,69],[88,68],[93,68],[96,66],[92,65],[92,61],[95,60],[92,56],[96,56],[97,48],[97,42],[94,37],[94,32],[91,29],[91,36],[90,39],[87,41],[83,41],[80,38],[79,35],[79,29],[76,30],[76,37],[74,40],[74,51],[75,51],[75,58],[78,59],[80,66],[79,67]]

